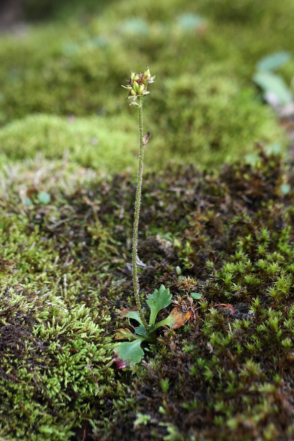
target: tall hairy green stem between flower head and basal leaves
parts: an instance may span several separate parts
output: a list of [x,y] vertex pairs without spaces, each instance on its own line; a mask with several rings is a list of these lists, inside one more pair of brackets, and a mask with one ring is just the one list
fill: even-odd
[[137,252],[138,252],[138,230],[139,230],[139,216],[140,216],[140,206],[141,206],[141,193],[142,193],[142,181],[143,181],[143,164],[144,164],[144,149],[145,145],[143,142],[143,97],[138,97],[138,113],[139,113],[139,160],[138,160],[138,174],[137,174],[137,189],[136,189],[136,200],[135,200],[135,216],[134,216],[134,231],[133,231],[133,285],[134,285],[134,295],[138,308],[138,313],[140,319],[142,320],[146,331],[148,332],[147,321],[143,315],[139,291],[139,278],[138,278],[138,265],[137,265]]

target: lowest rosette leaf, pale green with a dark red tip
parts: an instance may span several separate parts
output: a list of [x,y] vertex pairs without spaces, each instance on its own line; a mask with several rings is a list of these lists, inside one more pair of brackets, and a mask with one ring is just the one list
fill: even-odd
[[113,358],[119,369],[127,368],[141,362],[142,357],[144,356],[141,343],[141,340],[118,343],[113,350]]

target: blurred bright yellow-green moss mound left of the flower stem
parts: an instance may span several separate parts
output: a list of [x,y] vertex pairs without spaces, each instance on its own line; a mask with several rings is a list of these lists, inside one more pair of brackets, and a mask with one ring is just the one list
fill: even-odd
[[101,172],[118,172],[136,167],[135,122],[127,116],[119,125],[114,118],[73,118],[32,115],[0,129],[2,164],[10,160],[67,157],[71,164]]

